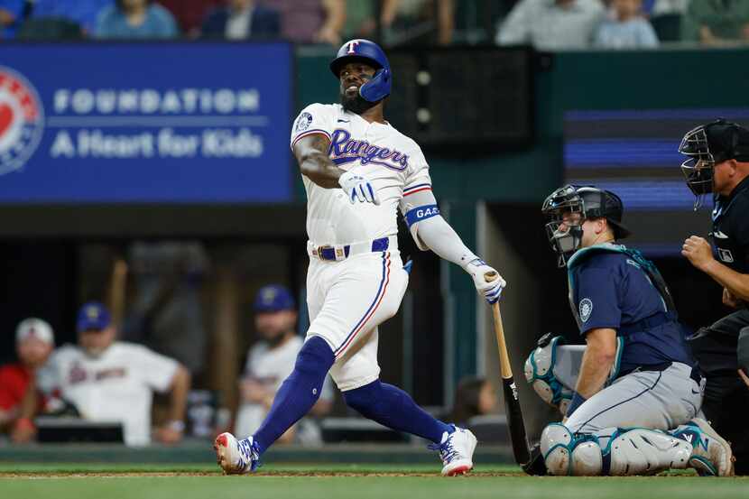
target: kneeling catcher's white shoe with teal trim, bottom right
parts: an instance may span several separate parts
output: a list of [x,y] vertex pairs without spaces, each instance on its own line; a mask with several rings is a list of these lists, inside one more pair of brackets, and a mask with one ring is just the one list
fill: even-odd
[[733,476],[734,458],[731,446],[706,420],[695,418],[681,425],[674,436],[692,444],[689,466],[701,476]]

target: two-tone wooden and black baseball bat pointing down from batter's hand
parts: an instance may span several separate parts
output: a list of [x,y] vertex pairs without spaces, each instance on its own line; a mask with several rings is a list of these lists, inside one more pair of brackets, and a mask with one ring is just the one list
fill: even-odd
[[[484,275],[486,282],[492,282],[498,277],[499,274],[497,273],[486,273]],[[507,413],[507,428],[510,431],[510,441],[513,444],[515,462],[524,468],[531,461],[531,452],[528,446],[528,437],[525,434],[525,424],[522,422],[522,410],[520,408],[517,387],[513,380],[510,356],[507,353],[507,344],[504,341],[504,327],[502,325],[502,315],[499,313],[499,300],[492,304],[492,315],[494,316],[496,346],[499,350],[499,369],[504,388],[504,410]]]

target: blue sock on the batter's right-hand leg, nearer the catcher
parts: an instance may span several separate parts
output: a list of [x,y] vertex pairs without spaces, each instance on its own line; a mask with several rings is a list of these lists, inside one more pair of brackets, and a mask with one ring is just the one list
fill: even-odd
[[454,431],[452,425],[435,419],[429,412],[416,405],[408,393],[380,380],[344,392],[343,398],[348,407],[356,409],[365,418],[437,444],[442,440],[445,431]]

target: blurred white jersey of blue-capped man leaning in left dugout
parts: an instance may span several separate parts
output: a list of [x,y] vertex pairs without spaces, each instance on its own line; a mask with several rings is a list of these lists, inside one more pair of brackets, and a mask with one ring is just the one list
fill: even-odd
[[153,391],[169,388],[177,366],[132,343],[117,341],[98,357],[66,345],[55,350],[38,379],[43,392],[59,389],[84,419],[122,422],[125,444],[141,446],[151,440]]

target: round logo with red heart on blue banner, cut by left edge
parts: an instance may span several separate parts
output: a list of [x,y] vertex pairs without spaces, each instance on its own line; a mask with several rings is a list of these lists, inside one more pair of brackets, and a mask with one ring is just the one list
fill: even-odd
[[13,69],[0,66],[0,175],[23,167],[43,131],[44,109],[36,89]]

